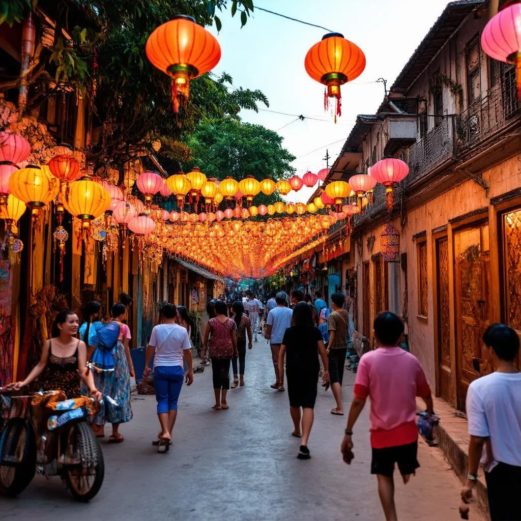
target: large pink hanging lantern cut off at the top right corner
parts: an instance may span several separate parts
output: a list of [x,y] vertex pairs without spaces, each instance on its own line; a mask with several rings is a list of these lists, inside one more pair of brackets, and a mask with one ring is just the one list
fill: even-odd
[[516,67],[517,97],[521,100],[521,4],[507,5],[481,33],[481,47],[494,60]]

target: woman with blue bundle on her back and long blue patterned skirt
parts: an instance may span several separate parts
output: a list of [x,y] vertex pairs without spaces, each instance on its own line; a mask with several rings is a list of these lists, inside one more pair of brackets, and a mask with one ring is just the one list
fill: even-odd
[[[107,401],[105,407],[102,407],[102,410],[94,416],[93,428],[98,438],[105,436],[105,424],[112,424],[112,434],[108,439],[109,443],[121,443],[124,441],[124,438],[119,433],[119,424],[127,423],[127,421],[132,419],[130,377],[134,376],[134,367],[129,350],[129,339],[131,337],[129,327],[121,322],[126,312],[127,308],[123,304],[120,302],[114,304],[110,312],[112,318],[104,327],[97,330],[97,338],[93,339],[95,342],[93,346],[96,348],[92,355],[93,360],[97,359],[99,351],[104,351],[105,357],[106,351],[109,351],[113,357],[112,369],[94,370],[96,387],[102,390],[104,396],[110,396],[117,404],[110,404]],[[106,335],[105,333],[108,333],[110,328],[114,329],[114,324],[119,326],[119,332],[116,329],[117,336],[114,341],[107,341],[105,337],[108,337],[108,334]]]

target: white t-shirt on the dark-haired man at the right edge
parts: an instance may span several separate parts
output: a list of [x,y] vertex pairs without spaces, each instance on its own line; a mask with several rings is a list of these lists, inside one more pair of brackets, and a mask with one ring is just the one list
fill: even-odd
[[469,435],[490,437],[493,462],[487,472],[498,463],[521,467],[521,373],[492,373],[474,380],[466,409]]

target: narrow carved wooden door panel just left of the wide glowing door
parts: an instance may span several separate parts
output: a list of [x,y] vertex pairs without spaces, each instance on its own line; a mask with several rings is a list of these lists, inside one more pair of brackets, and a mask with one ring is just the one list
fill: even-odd
[[449,241],[436,241],[437,308],[438,308],[438,394],[451,401],[451,340],[449,301]]

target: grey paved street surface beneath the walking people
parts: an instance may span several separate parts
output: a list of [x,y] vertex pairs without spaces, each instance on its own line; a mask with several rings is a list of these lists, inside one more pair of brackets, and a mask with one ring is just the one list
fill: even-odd
[[[368,411],[356,425],[355,460],[339,453],[345,416],[332,416],[331,392],[319,389],[309,448],[296,460],[299,440],[287,393],[269,388],[271,355],[265,341],[246,354],[246,386],[231,390],[228,411],[213,411],[211,370],[183,388],[174,445],[166,455],[151,445],[158,429],[153,396],[132,403],[134,419],[121,427],[125,442],[108,445],[105,481],[89,504],[74,502],[58,478],[39,476],[16,500],[0,498],[0,518],[37,521],[94,519],[342,520],[382,519],[376,478],[369,474]],[[354,375],[344,382],[350,400]],[[107,428],[107,432],[108,432]],[[420,444],[421,468],[397,485],[400,519],[451,521],[460,483],[437,449]],[[482,519],[471,511],[471,519]]]

